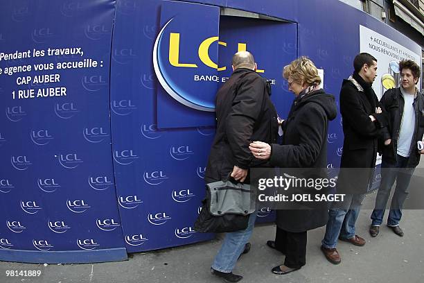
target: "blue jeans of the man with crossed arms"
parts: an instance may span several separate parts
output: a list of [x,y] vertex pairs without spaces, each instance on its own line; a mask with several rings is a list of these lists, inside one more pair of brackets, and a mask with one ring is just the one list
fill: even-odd
[[333,203],[328,211],[326,235],[321,241],[324,248],[336,248],[337,239],[355,237],[355,222],[365,194],[346,194],[343,202]]

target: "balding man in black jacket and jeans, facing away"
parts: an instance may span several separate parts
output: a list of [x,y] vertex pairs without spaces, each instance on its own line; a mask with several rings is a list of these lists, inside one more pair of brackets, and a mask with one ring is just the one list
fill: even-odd
[[[249,151],[251,141],[276,141],[277,114],[264,78],[256,73],[253,55],[241,51],[233,55],[233,74],[216,95],[216,134],[206,166],[205,181],[227,180],[249,182],[249,169],[267,166]],[[256,212],[249,216],[245,230],[227,233],[216,255],[211,273],[227,282],[238,282],[242,276],[232,273],[236,261],[251,236]]]

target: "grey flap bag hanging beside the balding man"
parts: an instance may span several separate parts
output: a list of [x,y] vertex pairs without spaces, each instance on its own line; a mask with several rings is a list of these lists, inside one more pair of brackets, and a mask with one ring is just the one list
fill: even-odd
[[[229,178],[231,180],[231,178]],[[211,182],[206,187],[211,193],[213,216],[222,214],[251,214],[256,209],[256,192],[250,185],[234,183],[230,180]]]

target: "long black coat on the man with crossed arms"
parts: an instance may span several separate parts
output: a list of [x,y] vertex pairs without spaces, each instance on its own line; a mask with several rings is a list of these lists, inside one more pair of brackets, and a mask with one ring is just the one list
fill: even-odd
[[[387,125],[384,109],[376,114],[376,107],[381,108],[381,104],[370,83],[357,73],[343,80],[340,112],[344,142],[337,180],[337,192],[340,194],[364,194],[369,187],[376,165],[378,137]],[[371,114],[376,121],[371,121]]]

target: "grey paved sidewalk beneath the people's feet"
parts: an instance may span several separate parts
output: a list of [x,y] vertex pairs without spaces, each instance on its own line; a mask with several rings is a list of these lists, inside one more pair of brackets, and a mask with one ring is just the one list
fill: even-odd
[[[372,207],[375,196],[375,192],[369,194],[364,200],[364,207]],[[366,239],[365,246],[339,243],[341,264],[330,264],[322,255],[319,247],[324,228],[319,228],[308,232],[306,266],[281,276],[271,273],[271,268],[283,263],[283,255],[265,245],[267,240],[274,239],[275,225],[257,225],[251,238],[251,251],[242,255],[234,273],[244,276],[242,283],[423,283],[424,210],[404,211],[400,226],[405,237],[398,237],[382,226],[378,237],[372,238],[368,232],[370,214],[370,209],[362,209],[357,220],[357,234]],[[140,252],[131,255],[128,261],[103,264],[44,266],[0,261],[0,283],[218,283],[222,281],[212,277],[209,268],[221,240],[222,234],[213,241]],[[40,270],[42,275],[6,277],[6,270]]]

